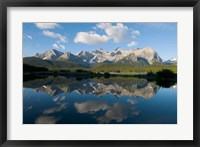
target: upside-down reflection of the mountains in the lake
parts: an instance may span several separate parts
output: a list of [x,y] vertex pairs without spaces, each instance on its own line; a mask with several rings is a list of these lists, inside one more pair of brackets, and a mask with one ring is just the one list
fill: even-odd
[[[125,78],[124,78],[125,79]],[[136,96],[142,98],[151,98],[159,90],[159,86],[146,79],[123,78],[116,79],[83,79],[81,81],[67,79],[65,77],[49,77],[47,79],[38,79],[24,82],[24,87],[34,88],[36,92],[44,92],[52,96],[61,93],[77,92],[79,94],[94,94],[103,96],[112,94],[116,97]]]

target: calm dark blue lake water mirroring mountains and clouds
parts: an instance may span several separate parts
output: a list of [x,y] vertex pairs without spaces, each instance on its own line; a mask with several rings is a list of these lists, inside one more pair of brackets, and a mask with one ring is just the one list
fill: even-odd
[[177,88],[130,77],[25,81],[24,124],[176,124]]

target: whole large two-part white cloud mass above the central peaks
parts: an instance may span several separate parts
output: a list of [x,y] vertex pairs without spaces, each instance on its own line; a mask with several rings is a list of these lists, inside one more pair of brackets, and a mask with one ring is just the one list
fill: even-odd
[[[74,38],[75,43],[85,43],[85,44],[103,44],[108,42],[109,40],[113,40],[115,43],[119,43],[125,40],[132,40],[133,36],[131,35],[139,35],[140,32],[138,30],[129,30],[129,28],[123,23],[116,23],[112,25],[111,23],[98,23],[94,30],[101,29],[105,34],[100,35],[94,31],[89,32],[78,32],[76,37]],[[136,45],[133,42],[130,45]]]

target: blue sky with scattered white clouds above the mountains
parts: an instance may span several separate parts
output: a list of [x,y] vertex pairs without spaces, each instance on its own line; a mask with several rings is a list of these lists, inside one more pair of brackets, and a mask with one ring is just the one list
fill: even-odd
[[109,52],[151,47],[163,60],[177,58],[177,23],[23,23],[23,56],[61,52]]

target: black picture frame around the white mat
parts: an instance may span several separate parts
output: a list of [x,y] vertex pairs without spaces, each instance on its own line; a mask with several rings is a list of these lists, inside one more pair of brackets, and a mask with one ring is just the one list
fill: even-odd
[[[193,7],[193,132],[192,141],[142,140],[142,141],[24,141],[7,140],[7,7]],[[184,17],[184,16],[183,16]],[[200,2],[199,0],[1,0],[0,2],[0,145],[1,146],[199,146],[199,77],[200,77]],[[185,132],[187,133],[187,132]]]

